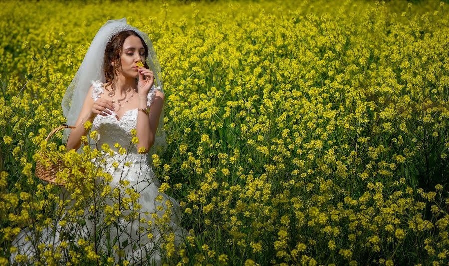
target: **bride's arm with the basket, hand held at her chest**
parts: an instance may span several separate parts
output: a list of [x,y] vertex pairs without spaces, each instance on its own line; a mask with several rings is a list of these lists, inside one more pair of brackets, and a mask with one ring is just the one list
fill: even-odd
[[[70,135],[67,138],[67,144],[65,145],[67,150],[71,149],[78,150],[78,148],[81,146],[80,138],[81,136],[86,136],[88,132],[84,128],[84,123],[86,123],[87,121],[90,121],[92,123],[97,114],[103,116],[106,116],[105,113],[112,114],[112,112],[106,110],[106,108],[114,110],[111,101],[104,100],[102,98],[99,98],[97,101],[94,101],[91,97],[92,89],[93,86],[89,88],[86,98],[84,99],[84,104],[83,107],[81,108],[81,112],[79,113],[78,119],[75,122],[75,128],[72,129]],[[86,144],[87,143],[84,143],[84,145]]]

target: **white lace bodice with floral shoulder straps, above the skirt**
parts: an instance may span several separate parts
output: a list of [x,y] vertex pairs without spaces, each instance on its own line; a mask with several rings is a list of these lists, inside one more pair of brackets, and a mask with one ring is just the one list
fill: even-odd
[[[92,81],[92,99],[94,101],[100,98],[100,94],[104,92],[103,83],[99,80]],[[150,106],[154,101],[154,95],[159,87],[151,88],[148,93],[147,106]],[[92,130],[97,131],[97,146],[107,143],[113,149],[114,144],[118,143],[126,148],[129,153],[137,154],[136,145],[132,144],[131,130],[136,128],[137,124],[137,108],[126,111],[120,120],[117,119],[117,114],[112,111],[111,115],[97,115],[92,123]]]

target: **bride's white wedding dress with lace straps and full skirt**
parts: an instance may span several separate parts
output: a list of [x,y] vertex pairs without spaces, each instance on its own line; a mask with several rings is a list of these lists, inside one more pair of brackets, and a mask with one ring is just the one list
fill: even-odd
[[[100,81],[92,81],[93,91],[92,98],[96,101],[104,92],[103,84]],[[148,94],[148,106],[153,102],[155,91],[158,88],[153,88]],[[105,172],[112,175],[112,181],[108,184],[112,189],[119,187],[121,181],[129,181],[126,188],[132,188],[134,192],[140,194],[137,203],[141,206],[138,210],[138,217],[134,221],[129,221],[120,216],[113,228],[106,229],[106,234],[97,234],[97,243],[101,250],[106,254],[107,250],[111,250],[111,246],[120,246],[121,259],[128,260],[131,264],[161,264],[161,257],[163,249],[161,246],[166,243],[168,236],[170,242],[175,244],[175,247],[182,243],[188,235],[187,231],[180,226],[180,206],[179,203],[170,196],[159,192],[159,182],[155,176],[147,156],[150,154],[139,154],[136,146],[131,144],[132,135],[131,130],[136,128],[137,123],[137,108],[128,110],[124,113],[120,120],[117,118],[115,112],[112,115],[95,117],[92,123],[92,130],[96,130],[98,138],[96,140],[97,147],[101,149],[103,144],[108,144],[113,150],[113,156],[108,154],[104,162],[98,164]],[[126,148],[127,152],[120,155],[115,144],[120,144],[121,147]],[[113,164],[116,163],[114,167]],[[126,164],[130,162],[131,165]],[[124,194],[122,189],[122,196]],[[118,203],[117,198],[109,197],[103,201],[105,207],[113,206]],[[168,204],[167,204],[168,203]],[[130,205],[131,206],[131,205]],[[126,209],[126,208],[125,208]],[[122,210],[123,215],[129,214],[132,210]],[[85,216],[88,217],[89,212],[85,210]],[[100,221],[105,218],[102,214]],[[140,219],[144,218],[150,223],[141,223]],[[161,221],[164,218],[164,224]],[[83,225],[75,235],[77,239],[93,239],[94,222],[85,219],[86,224]],[[98,225],[100,223],[100,225]],[[102,222],[96,221],[97,227],[101,226]],[[59,245],[59,224],[53,229],[47,228],[42,231],[41,241],[43,243],[52,244],[53,247]],[[81,233],[80,233],[81,232]],[[25,241],[26,236],[30,236],[32,232],[29,229],[22,230],[12,245],[18,248],[18,254],[25,254],[28,257],[35,256],[34,246],[29,241]],[[151,238],[148,237],[151,236]],[[76,241],[76,239],[75,239]],[[174,242],[173,242],[174,241]],[[118,252],[117,252],[118,253]],[[106,254],[107,256],[119,259],[119,255]],[[14,261],[17,252],[11,255],[11,263]],[[36,260],[36,259],[35,259]],[[38,260],[38,259],[37,259]]]

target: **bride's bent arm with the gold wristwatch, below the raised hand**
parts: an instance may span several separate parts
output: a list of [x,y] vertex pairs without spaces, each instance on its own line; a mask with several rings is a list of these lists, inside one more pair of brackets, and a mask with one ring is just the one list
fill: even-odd
[[[139,139],[137,151],[140,148],[145,148],[144,153],[147,153],[153,146],[156,130],[158,129],[159,117],[164,107],[164,99],[164,93],[156,90],[150,113],[148,115],[142,111],[137,113],[136,136]],[[147,100],[147,97],[139,95],[139,108],[147,108]]]

